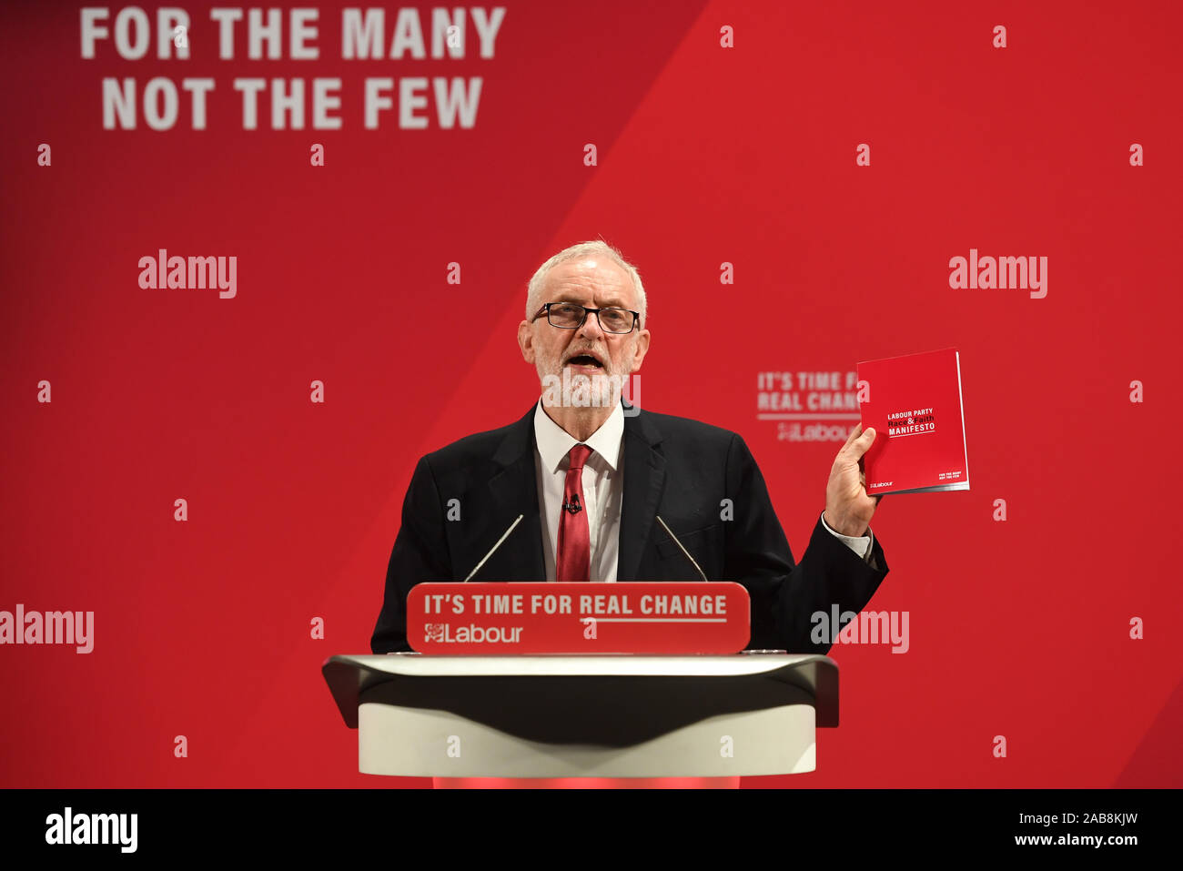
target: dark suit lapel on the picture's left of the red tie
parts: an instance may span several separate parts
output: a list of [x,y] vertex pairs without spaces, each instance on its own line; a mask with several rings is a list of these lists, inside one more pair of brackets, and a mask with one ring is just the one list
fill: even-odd
[[[522,522],[505,540],[498,553],[498,556],[504,557],[508,551],[512,572],[510,580],[513,581],[547,580],[547,564],[542,556],[542,523],[538,517],[538,484],[534,460],[534,409],[535,406],[531,406],[525,417],[512,426],[497,449],[493,462],[500,469],[489,480],[489,490],[500,517],[498,524],[502,528],[497,533],[498,537],[509,528],[515,517],[523,515]],[[490,547],[492,547],[492,542],[490,542]]]

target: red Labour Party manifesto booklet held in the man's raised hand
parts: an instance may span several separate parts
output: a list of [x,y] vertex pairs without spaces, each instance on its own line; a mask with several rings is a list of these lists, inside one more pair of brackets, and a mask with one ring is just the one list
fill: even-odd
[[862,456],[868,495],[969,490],[956,348],[868,360],[859,381],[862,428],[875,430]]

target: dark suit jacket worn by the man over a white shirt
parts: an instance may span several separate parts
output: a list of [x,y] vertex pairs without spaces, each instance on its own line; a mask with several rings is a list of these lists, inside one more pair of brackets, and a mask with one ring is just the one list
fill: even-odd
[[[627,406],[626,406],[627,407]],[[420,581],[463,581],[519,514],[509,538],[473,581],[545,581],[535,476],[535,406],[516,424],[477,433],[419,460],[386,574],[386,601],[370,646],[408,651],[406,600]],[[625,418],[620,518],[621,581],[700,580],[655,523],[661,515],[707,579],[751,595],[750,649],[825,653],[810,615],[838,605],[859,612],[887,574],[879,537],[868,563],[821,524],[794,562],[756,460],[736,433],[636,409]],[[459,520],[446,520],[450,501]],[[723,499],[733,518],[722,520]]]

